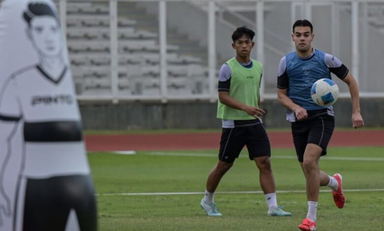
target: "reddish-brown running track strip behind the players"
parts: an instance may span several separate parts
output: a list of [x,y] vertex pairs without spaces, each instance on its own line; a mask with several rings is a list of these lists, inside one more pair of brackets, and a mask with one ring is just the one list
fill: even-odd
[[[221,133],[86,135],[88,151],[218,149]],[[293,148],[290,132],[268,132],[272,147]],[[384,146],[384,130],[335,131],[329,146]]]

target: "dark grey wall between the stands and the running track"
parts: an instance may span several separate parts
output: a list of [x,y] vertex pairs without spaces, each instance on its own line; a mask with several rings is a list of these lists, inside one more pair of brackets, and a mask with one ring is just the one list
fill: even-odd
[[[339,99],[334,106],[336,127],[351,127],[352,100]],[[360,99],[361,115],[366,127],[384,126],[384,99]],[[212,129],[220,128],[216,118],[217,103],[185,102],[80,102],[83,126],[86,130],[140,129]],[[288,128],[285,108],[277,100],[265,100],[261,108],[267,128]]]

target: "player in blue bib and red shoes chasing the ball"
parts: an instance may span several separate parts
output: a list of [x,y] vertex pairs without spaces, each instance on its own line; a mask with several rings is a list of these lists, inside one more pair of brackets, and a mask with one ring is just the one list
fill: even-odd
[[359,128],[364,121],[360,115],[358,86],[348,68],[338,58],[312,47],[313,26],[308,20],[296,21],[292,30],[296,50],[280,60],[277,94],[280,103],[287,108],[297,158],[306,178],[308,214],[299,230],[314,231],[320,186],[332,189],[338,208],[343,208],[345,197],[341,174],[329,176],[319,170],[320,156],[326,154],[335,120],[332,106],[320,107],[312,100],[313,83],[322,78],[330,79],[331,72],[334,73],[349,87],[352,126]]

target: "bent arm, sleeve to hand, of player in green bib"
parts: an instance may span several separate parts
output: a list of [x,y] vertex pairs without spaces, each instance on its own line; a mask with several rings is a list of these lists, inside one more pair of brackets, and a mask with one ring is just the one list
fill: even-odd
[[246,112],[248,115],[260,117],[264,110],[243,104],[229,95],[231,71],[228,65],[223,64],[219,75],[219,100],[222,104]]

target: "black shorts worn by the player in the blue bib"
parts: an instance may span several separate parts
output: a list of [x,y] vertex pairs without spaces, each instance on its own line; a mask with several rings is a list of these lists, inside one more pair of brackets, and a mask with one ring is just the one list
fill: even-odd
[[315,118],[291,123],[293,144],[296,148],[297,159],[303,162],[307,144],[321,147],[321,155],[326,155],[327,146],[335,128],[335,118],[332,115],[321,115]]

